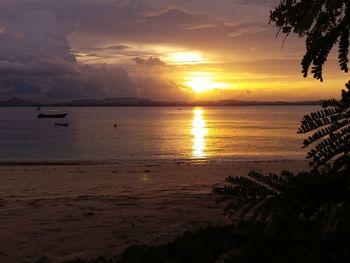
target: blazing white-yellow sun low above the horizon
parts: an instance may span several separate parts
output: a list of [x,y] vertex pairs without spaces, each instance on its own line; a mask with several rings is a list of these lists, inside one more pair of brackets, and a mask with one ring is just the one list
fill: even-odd
[[196,93],[208,92],[214,89],[225,89],[228,87],[226,83],[217,81],[215,76],[209,72],[191,72],[185,79],[185,85]]

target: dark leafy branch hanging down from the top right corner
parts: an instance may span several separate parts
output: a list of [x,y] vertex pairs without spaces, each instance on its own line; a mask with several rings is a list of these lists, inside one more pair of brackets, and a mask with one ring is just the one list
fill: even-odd
[[271,22],[286,34],[306,37],[302,73],[323,81],[322,70],[331,49],[338,43],[340,69],[348,72],[350,1],[282,0],[270,14]]

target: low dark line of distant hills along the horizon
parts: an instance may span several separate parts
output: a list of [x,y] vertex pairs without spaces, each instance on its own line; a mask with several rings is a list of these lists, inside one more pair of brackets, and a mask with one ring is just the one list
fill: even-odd
[[72,100],[57,102],[52,104],[39,104],[12,98],[0,101],[0,107],[23,107],[23,106],[52,106],[52,107],[121,107],[121,106],[296,106],[296,105],[321,105],[323,101],[244,101],[244,100],[219,100],[219,101],[153,101],[146,98],[121,97],[121,98],[105,98],[102,100]]

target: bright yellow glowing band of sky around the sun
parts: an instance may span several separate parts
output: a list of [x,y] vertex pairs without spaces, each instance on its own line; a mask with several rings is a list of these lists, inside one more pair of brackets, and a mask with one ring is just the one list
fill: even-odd
[[[271,60],[266,62],[224,63],[227,58],[219,53],[204,50],[186,50],[184,47],[166,45],[128,44],[128,52],[149,51],[159,53],[159,59],[168,67],[132,68],[129,75],[134,78],[149,77],[150,71],[158,78],[168,80],[181,86],[187,96],[203,100],[242,99],[242,100],[313,100],[337,97],[338,90],[344,86],[347,76],[340,74],[337,65],[327,65],[325,81],[319,83],[310,75],[304,79],[300,74],[299,61],[291,60],[287,65]],[[105,49],[102,49],[105,50]],[[88,64],[115,64],[123,61],[119,54],[109,53],[98,57],[93,54],[78,52],[79,62]],[[76,53],[77,54],[77,53]],[[158,57],[158,56],[155,56]],[[248,58],[249,56],[247,56]],[[147,57],[145,57],[147,59]],[[235,60],[238,58],[235,56]],[[126,63],[134,63],[130,57]],[[317,90],[317,92],[315,92]]]

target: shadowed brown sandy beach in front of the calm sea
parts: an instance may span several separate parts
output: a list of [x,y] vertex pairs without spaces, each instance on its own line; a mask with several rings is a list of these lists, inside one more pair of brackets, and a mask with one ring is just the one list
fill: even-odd
[[187,230],[225,224],[212,186],[255,169],[307,169],[304,161],[2,164],[0,262],[118,255]]

